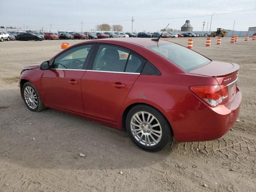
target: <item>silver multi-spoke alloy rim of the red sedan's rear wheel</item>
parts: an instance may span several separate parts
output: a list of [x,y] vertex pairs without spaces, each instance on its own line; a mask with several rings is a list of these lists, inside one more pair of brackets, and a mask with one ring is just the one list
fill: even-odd
[[148,112],[137,112],[130,121],[132,135],[144,146],[155,146],[162,138],[162,128],[155,116]]

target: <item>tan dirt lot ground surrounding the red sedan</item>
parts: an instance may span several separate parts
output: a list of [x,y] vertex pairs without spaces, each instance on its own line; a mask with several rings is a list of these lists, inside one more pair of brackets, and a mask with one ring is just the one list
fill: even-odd
[[[171,39],[182,45],[187,40]],[[218,140],[174,141],[157,153],[95,122],[26,109],[15,81],[22,68],[48,60],[62,42],[80,40],[0,43],[0,192],[256,191],[256,42],[239,38],[230,44],[225,37],[217,46],[216,40],[205,47],[206,38],[194,38],[193,48],[240,65],[240,122]]]

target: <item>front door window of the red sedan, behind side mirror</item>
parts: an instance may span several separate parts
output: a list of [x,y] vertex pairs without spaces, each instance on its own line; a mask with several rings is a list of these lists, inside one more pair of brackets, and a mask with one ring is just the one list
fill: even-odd
[[54,69],[83,69],[84,62],[92,45],[74,47],[54,60]]

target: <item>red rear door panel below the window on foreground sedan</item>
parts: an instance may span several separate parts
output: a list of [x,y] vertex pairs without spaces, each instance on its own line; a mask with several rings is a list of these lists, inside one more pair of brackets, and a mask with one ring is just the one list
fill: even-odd
[[[139,74],[86,71],[82,97],[86,116],[116,122],[119,111]],[[123,84],[125,87],[114,87]]]

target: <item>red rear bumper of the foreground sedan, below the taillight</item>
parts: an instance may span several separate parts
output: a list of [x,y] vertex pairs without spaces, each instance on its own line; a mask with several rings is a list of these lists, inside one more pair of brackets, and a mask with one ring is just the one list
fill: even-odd
[[166,110],[174,138],[178,142],[208,141],[222,137],[236,122],[242,94],[238,90],[230,106],[222,104],[204,110]]

